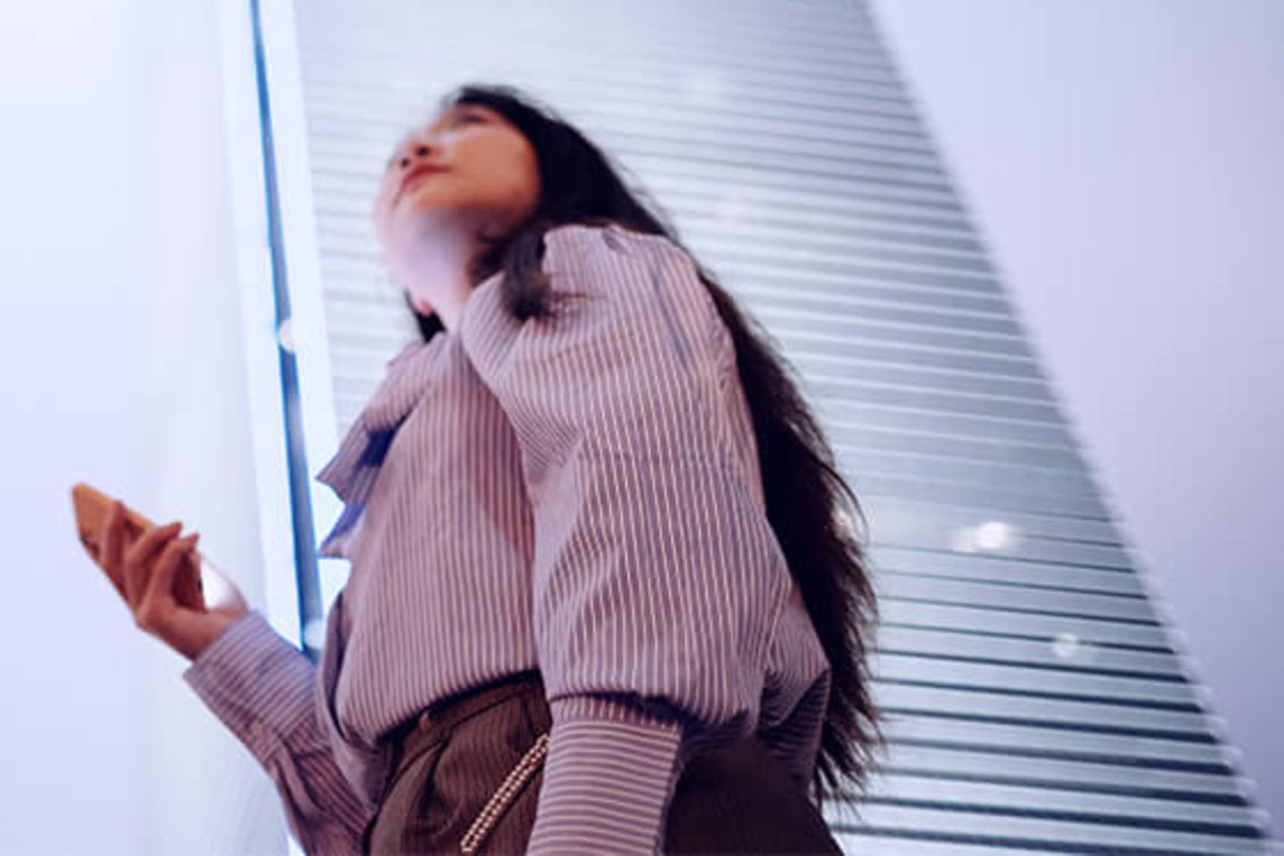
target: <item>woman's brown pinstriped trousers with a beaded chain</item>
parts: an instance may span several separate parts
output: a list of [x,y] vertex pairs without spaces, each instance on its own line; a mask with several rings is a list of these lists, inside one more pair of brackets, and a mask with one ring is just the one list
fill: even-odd
[[[429,708],[398,735],[372,856],[460,853],[483,806],[552,724],[539,672],[515,675]],[[543,765],[479,853],[524,853]],[[665,853],[841,853],[824,819],[756,734],[692,758],[669,807]]]

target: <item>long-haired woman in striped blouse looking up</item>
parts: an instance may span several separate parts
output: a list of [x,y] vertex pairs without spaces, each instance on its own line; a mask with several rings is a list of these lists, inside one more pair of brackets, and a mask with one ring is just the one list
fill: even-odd
[[[352,562],[317,669],[177,525],[105,570],[308,852],[837,852],[881,738],[874,598],[783,361],[577,130],[443,100],[374,219],[422,341],[318,477]],[[850,504],[847,504],[850,503]]]

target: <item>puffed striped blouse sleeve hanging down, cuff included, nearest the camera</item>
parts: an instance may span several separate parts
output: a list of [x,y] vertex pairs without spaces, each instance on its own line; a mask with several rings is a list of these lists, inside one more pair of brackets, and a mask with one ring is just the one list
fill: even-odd
[[466,307],[521,448],[552,712],[529,852],[655,852],[701,746],[750,734],[788,569],[733,443],[729,335],[663,236],[569,226],[552,320]]

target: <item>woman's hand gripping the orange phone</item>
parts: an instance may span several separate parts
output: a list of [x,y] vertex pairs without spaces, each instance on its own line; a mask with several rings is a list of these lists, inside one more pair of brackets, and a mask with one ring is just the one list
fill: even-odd
[[[100,566],[140,629],[195,660],[248,607],[232,581],[195,554],[199,534],[176,538],[181,526],[177,521],[153,526],[126,543],[125,506],[116,502],[103,525]],[[175,576],[186,561],[200,562],[204,603],[199,608],[184,606],[173,595]]]

